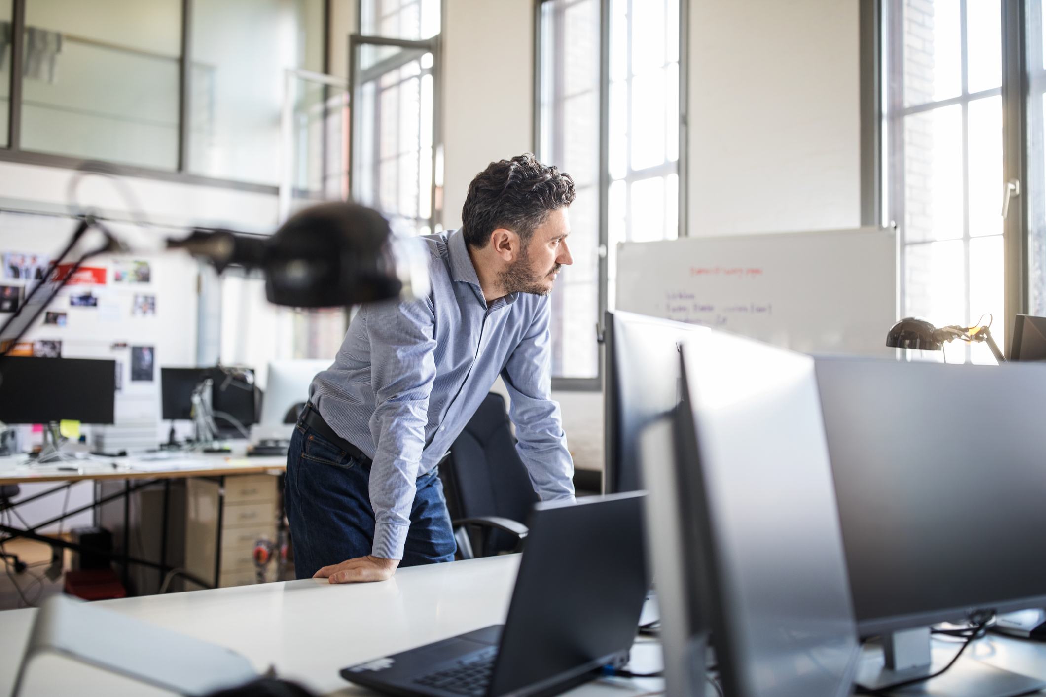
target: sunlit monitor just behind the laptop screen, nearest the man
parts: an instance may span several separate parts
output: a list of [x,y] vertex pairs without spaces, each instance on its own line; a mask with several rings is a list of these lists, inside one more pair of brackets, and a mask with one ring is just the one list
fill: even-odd
[[643,488],[639,434],[646,423],[679,403],[679,343],[707,331],[707,327],[635,312],[605,315],[605,493]]

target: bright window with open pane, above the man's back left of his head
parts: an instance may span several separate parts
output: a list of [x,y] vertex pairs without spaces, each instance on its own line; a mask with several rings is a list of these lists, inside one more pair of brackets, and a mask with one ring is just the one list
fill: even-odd
[[353,195],[396,233],[437,232],[439,2],[363,0],[361,27],[349,49]]

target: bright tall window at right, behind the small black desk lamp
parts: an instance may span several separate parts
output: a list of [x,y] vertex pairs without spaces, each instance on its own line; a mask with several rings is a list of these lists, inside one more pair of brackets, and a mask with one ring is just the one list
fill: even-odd
[[[1000,3],[884,5],[886,215],[899,224],[903,240],[902,311],[938,326],[972,326],[991,315],[1001,345]],[[995,362],[985,345],[959,342],[946,346],[943,358]]]

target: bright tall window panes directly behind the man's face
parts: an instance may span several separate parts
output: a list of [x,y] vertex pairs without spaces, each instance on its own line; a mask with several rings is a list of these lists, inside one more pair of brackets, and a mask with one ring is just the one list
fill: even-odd
[[577,186],[574,263],[552,294],[552,375],[598,389],[616,245],[679,235],[680,3],[545,0],[539,22],[538,156]]

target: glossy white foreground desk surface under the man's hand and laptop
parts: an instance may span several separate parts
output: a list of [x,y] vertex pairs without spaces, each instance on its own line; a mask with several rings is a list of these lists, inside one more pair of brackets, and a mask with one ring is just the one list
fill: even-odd
[[[365,693],[342,668],[430,642],[501,624],[508,612],[520,555],[403,568],[382,583],[325,580],[146,596],[97,603],[145,622],[229,647],[259,671],[321,694]],[[0,695],[9,694],[36,609],[0,612]],[[634,652],[635,670],[655,671],[654,647]],[[646,655],[639,655],[646,654]],[[55,664],[54,661],[62,661]],[[61,658],[40,658],[24,694],[166,694]],[[572,694],[619,697],[663,690],[655,678],[602,679]],[[713,693],[709,693],[713,694]]]

